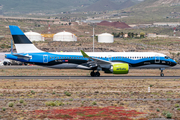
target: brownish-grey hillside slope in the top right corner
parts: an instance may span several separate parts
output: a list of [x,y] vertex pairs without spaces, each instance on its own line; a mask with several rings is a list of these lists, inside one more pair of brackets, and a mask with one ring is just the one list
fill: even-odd
[[179,22],[180,0],[146,0],[125,11],[126,23]]

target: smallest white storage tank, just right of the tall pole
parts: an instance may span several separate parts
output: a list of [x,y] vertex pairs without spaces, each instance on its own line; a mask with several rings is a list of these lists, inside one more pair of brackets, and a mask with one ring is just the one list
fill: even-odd
[[98,35],[98,42],[100,43],[113,43],[114,42],[114,36],[109,33],[103,33]]

